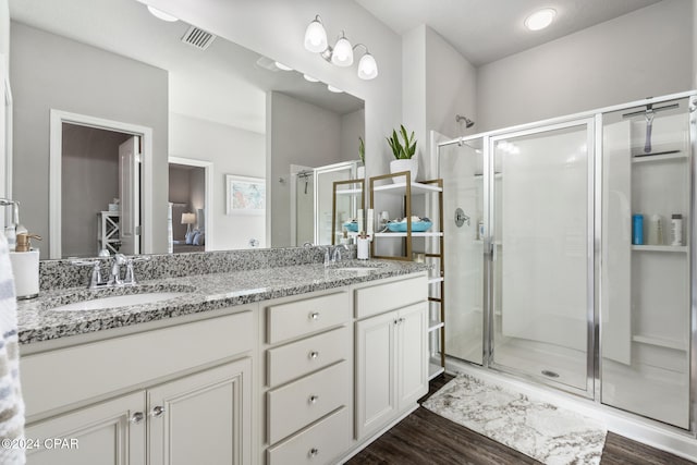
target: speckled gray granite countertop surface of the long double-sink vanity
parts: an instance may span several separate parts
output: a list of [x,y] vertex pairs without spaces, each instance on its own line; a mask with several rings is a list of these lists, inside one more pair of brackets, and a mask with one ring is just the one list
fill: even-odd
[[[350,268],[350,269],[346,269]],[[359,269],[365,268],[365,269]],[[17,307],[21,344],[127,327],[182,315],[305,294],[333,287],[426,271],[431,266],[398,260],[346,260],[339,267],[322,264],[262,268],[142,281],[137,286],[90,291],[72,287],[45,291]],[[110,309],[56,311],[78,301],[143,292],[184,292],[169,301]]]

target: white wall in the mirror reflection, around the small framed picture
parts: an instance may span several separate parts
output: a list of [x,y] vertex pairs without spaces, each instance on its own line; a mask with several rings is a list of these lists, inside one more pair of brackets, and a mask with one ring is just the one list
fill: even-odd
[[[249,238],[265,247],[265,218],[225,213],[225,174],[265,178],[265,136],[224,124],[170,113],[170,156],[213,163],[211,250],[248,248]],[[206,240],[208,241],[208,236]]]

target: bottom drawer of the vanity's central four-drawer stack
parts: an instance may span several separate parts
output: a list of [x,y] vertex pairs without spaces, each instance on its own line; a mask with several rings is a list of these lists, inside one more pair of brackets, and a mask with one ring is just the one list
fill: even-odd
[[268,450],[269,465],[328,464],[351,445],[351,414],[342,407],[317,425]]

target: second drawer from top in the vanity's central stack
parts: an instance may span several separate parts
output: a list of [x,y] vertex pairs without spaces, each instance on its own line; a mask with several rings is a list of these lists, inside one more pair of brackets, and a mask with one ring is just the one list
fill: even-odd
[[267,383],[279,386],[351,358],[351,330],[339,328],[267,351]]

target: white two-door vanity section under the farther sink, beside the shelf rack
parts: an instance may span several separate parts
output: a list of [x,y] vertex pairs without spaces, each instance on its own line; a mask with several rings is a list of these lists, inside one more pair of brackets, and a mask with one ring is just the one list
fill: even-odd
[[428,392],[425,276],[357,289],[356,439],[375,433]]

